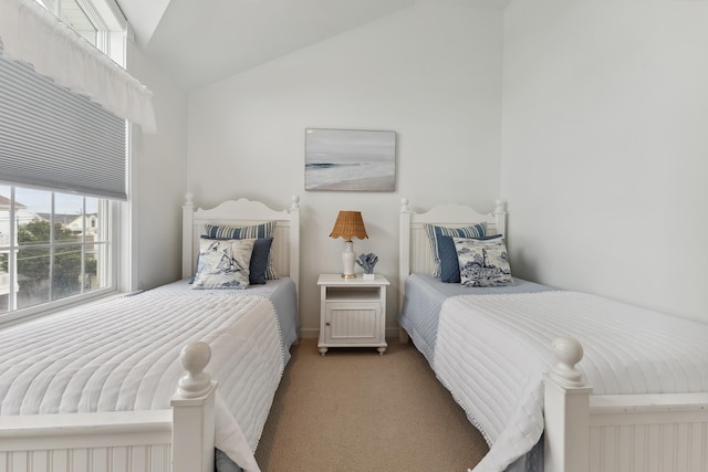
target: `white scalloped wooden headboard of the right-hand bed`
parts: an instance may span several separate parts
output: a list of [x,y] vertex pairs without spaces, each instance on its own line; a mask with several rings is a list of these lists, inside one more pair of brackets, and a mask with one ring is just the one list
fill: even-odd
[[410,210],[408,199],[400,200],[400,228],[398,242],[398,286],[400,287],[399,307],[406,277],[412,273],[433,273],[433,253],[424,224],[442,224],[446,227],[467,227],[473,223],[487,223],[488,234],[507,232],[507,209],[503,200],[497,200],[494,211],[482,214],[464,204],[438,204],[425,213]]

